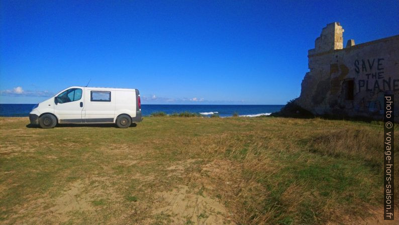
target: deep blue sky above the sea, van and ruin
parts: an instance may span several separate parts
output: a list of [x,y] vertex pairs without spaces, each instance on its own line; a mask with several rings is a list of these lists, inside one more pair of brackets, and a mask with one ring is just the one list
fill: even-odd
[[284,104],[328,23],[364,43],[399,34],[399,2],[9,1],[0,103],[72,85],[138,88],[142,102]]

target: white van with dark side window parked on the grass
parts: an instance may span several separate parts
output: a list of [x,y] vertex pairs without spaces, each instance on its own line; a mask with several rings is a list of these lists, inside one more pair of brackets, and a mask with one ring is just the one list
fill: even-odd
[[140,92],[125,88],[68,87],[35,105],[29,120],[42,128],[54,128],[57,123],[114,123],[128,128],[142,121]]

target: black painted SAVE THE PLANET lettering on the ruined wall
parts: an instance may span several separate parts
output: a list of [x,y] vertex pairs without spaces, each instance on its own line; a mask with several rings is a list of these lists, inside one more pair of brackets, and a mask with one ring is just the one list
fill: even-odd
[[355,72],[358,79],[358,92],[374,90],[399,90],[399,79],[391,79],[384,73],[384,58],[356,59]]

